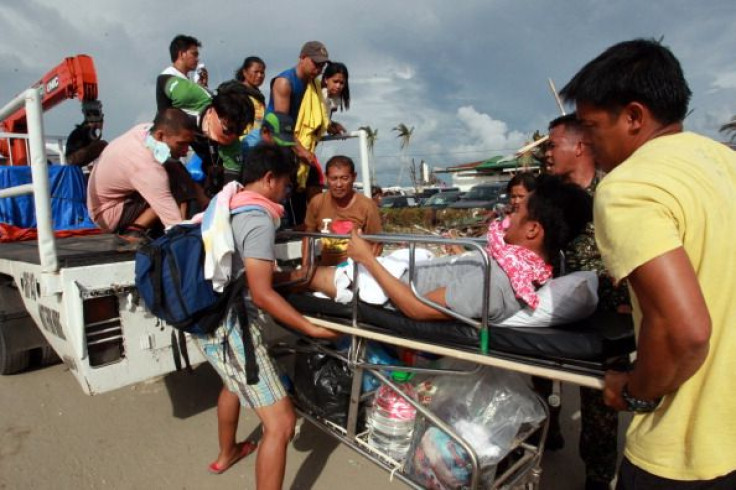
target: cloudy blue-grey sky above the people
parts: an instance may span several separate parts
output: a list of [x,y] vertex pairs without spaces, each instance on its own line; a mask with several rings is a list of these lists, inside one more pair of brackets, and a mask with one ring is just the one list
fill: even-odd
[[[152,119],[176,34],[202,41],[211,86],[253,54],[268,80],[296,63],[302,43],[321,40],[350,70],[350,111],[335,119],[378,129],[382,185],[396,184],[402,158],[444,167],[517,148],[559,114],[548,78],[561,88],[603,49],[635,37],[664,37],[680,59],[694,94],[688,129],[723,139],[718,127],[736,115],[733,0],[0,0],[0,15],[2,103],[64,57],[89,54],[107,139]],[[47,113],[47,133],[68,134],[79,109],[68,102]],[[403,157],[399,123],[415,128]],[[357,147],[325,145],[318,156],[335,152],[355,156]]]

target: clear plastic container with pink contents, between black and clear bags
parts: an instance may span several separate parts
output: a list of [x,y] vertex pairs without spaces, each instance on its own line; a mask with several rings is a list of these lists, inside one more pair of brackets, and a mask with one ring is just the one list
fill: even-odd
[[[407,383],[410,374],[394,371],[391,378],[401,390],[416,398],[414,387]],[[416,409],[388,385],[381,385],[373,399],[368,419],[368,443],[396,461],[406,457],[414,432]]]

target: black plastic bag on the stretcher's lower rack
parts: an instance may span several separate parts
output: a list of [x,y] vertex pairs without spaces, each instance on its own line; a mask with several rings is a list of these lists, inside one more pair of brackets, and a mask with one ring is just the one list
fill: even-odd
[[299,405],[312,415],[345,427],[352,382],[341,360],[321,352],[297,352],[294,391]]

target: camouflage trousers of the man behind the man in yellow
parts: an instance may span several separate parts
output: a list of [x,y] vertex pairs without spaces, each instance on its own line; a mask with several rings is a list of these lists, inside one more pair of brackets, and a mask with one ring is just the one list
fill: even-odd
[[[532,378],[534,389],[543,398],[552,393],[552,381]],[[560,430],[560,408],[550,407],[550,434]],[[585,477],[610,482],[616,474],[618,459],[618,412],[603,403],[600,390],[580,387],[580,458],[585,463]]]

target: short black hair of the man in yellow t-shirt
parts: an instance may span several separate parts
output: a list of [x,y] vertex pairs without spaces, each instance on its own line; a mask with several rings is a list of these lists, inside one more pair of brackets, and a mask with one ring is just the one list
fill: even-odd
[[662,124],[685,119],[691,94],[677,58],[659,42],[646,39],[611,46],[560,91],[566,102],[587,103],[614,114],[639,102]]

